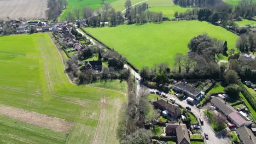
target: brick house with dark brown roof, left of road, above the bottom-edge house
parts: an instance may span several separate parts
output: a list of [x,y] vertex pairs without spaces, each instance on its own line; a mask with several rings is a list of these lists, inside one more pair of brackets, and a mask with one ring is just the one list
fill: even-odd
[[156,109],[160,109],[161,111],[167,110],[167,115],[170,115],[172,118],[178,119],[181,116],[181,110],[179,110],[179,106],[169,103],[164,99],[157,99],[156,101],[153,101],[153,105]]

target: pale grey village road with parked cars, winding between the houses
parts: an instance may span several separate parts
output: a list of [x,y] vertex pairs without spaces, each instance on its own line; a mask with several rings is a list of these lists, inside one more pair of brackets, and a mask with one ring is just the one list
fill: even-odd
[[[79,29],[77,29],[77,31],[79,33],[81,33],[82,35],[84,35],[82,32],[79,31]],[[92,39],[90,39],[90,41],[92,41],[92,44],[96,44]],[[97,44],[96,44],[97,45]],[[139,91],[141,89],[141,87],[144,87],[142,85],[142,83],[140,82],[141,80],[141,76],[139,76],[138,73],[136,73],[136,71],[134,71],[133,69],[131,69],[129,67],[129,65],[127,64],[124,64],[124,68],[126,69],[130,69],[131,70],[131,74],[133,74],[136,78],[138,78],[139,80],[137,80],[137,100],[139,100],[138,98],[138,95],[139,95]],[[147,88],[147,87],[145,87]],[[157,91],[157,89],[150,89],[150,88],[147,88],[148,89],[148,92],[153,90],[153,91]],[[197,109],[195,106],[191,106],[191,105],[188,105],[187,104],[187,101],[185,100],[179,100],[177,97],[175,97],[174,95],[171,95],[171,94],[166,94],[168,99],[170,98],[173,98],[176,100],[176,103],[183,106],[183,107],[186,107],[186,106],[190,106],[191,107],[191,112],[194,113],[194,115],[196,116],[197,120],[198,118],[202,118],[203,119],[203,122],[204,122],[204,125],[201,125],[201,130],[202,130],[202,135],[204,136],[204,133],[208,133],[209,135],[209,140],[205,140],[205,143],[211,143],[211,144],[228,144],[228,143],[231,143],[230,139],[228,137],[224,137],[220,134],[220,135],[217,135],[216,133],[214,133],[214,130],[212,129],[211,127],[211,124],[210,122],[208,121],[208,118],[205,116],[205,114],[202,112],[203,110],[199,110]]]

